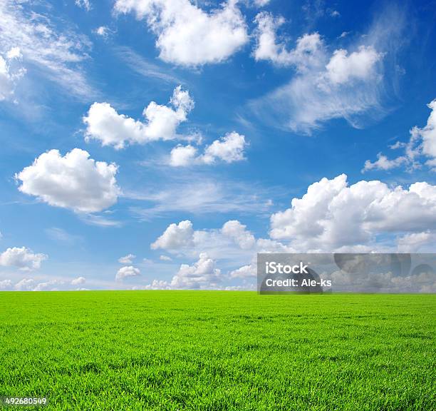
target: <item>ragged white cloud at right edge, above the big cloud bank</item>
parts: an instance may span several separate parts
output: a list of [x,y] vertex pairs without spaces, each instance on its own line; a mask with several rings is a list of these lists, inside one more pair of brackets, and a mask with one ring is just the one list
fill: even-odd
[[422,158],[425,158],[425,164],[432,171],[436,171],[436,100],[433,100],[427,106],[431,109],[427,124],[422,128],[413,127],[410,130],[410,138],[407,143],[397,141],[393,146],[390,146],[393,150],[403,148],[404,154],[389,159],[382,153],[378,153],[376,161],[365,161],[363,172],[369,170],[386,171],[400,166],[405,166],[408,171],[413,171],[415,168],[422,166],[420,161]]

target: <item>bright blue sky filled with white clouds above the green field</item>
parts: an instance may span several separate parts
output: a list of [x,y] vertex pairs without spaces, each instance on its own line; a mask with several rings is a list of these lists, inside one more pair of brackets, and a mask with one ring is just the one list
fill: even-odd
[[0,287],[251,288],[259,251],[434,250],[435,14],[2,2]]

